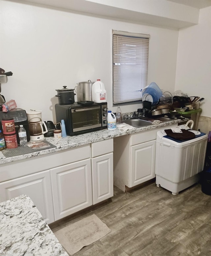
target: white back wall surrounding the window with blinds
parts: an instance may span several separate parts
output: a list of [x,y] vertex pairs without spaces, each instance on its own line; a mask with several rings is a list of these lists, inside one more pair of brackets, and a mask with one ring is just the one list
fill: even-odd
[[[55,121],[56,89],[101,79],[112,107],[112,29],[151,35],[148,84],[174,91],[178,31],[0,0],[0,67],[6,100]],[[75,96],[76,100],[76,96]],[[132,112],[139,104],[121,106]]]

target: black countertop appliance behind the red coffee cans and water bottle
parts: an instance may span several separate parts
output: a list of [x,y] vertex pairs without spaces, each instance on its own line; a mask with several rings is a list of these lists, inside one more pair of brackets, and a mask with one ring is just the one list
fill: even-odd
[[[26,130],[27,142],[30,141],[28,118],[27,118],[25,110],[16,108],[16,109],[10,110],[9,112],[0,112],[0,123],[3,118],[13,118],[14,119],[15,133],[17,136],[17,144],[20,143],[19,136],[18,136],[18,130],[19,130],[20,124],[22,124]],[[2,126],[2,124],[1,124],[1,126]],[[2,127],[1,127],[1,129],[2,129]]]

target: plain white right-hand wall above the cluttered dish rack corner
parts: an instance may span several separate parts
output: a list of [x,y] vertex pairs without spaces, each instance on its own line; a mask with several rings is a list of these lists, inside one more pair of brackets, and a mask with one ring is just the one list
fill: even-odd
[[201,115],[211,117],[211,7],[200,10],[198,25],[179,30],[175,90],[204,97]]

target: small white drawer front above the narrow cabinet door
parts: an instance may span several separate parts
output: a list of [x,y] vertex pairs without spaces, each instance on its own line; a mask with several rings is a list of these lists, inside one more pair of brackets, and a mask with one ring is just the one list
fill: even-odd
[[92,143],[92,157],[105,155],[113,152],[113,139]]

